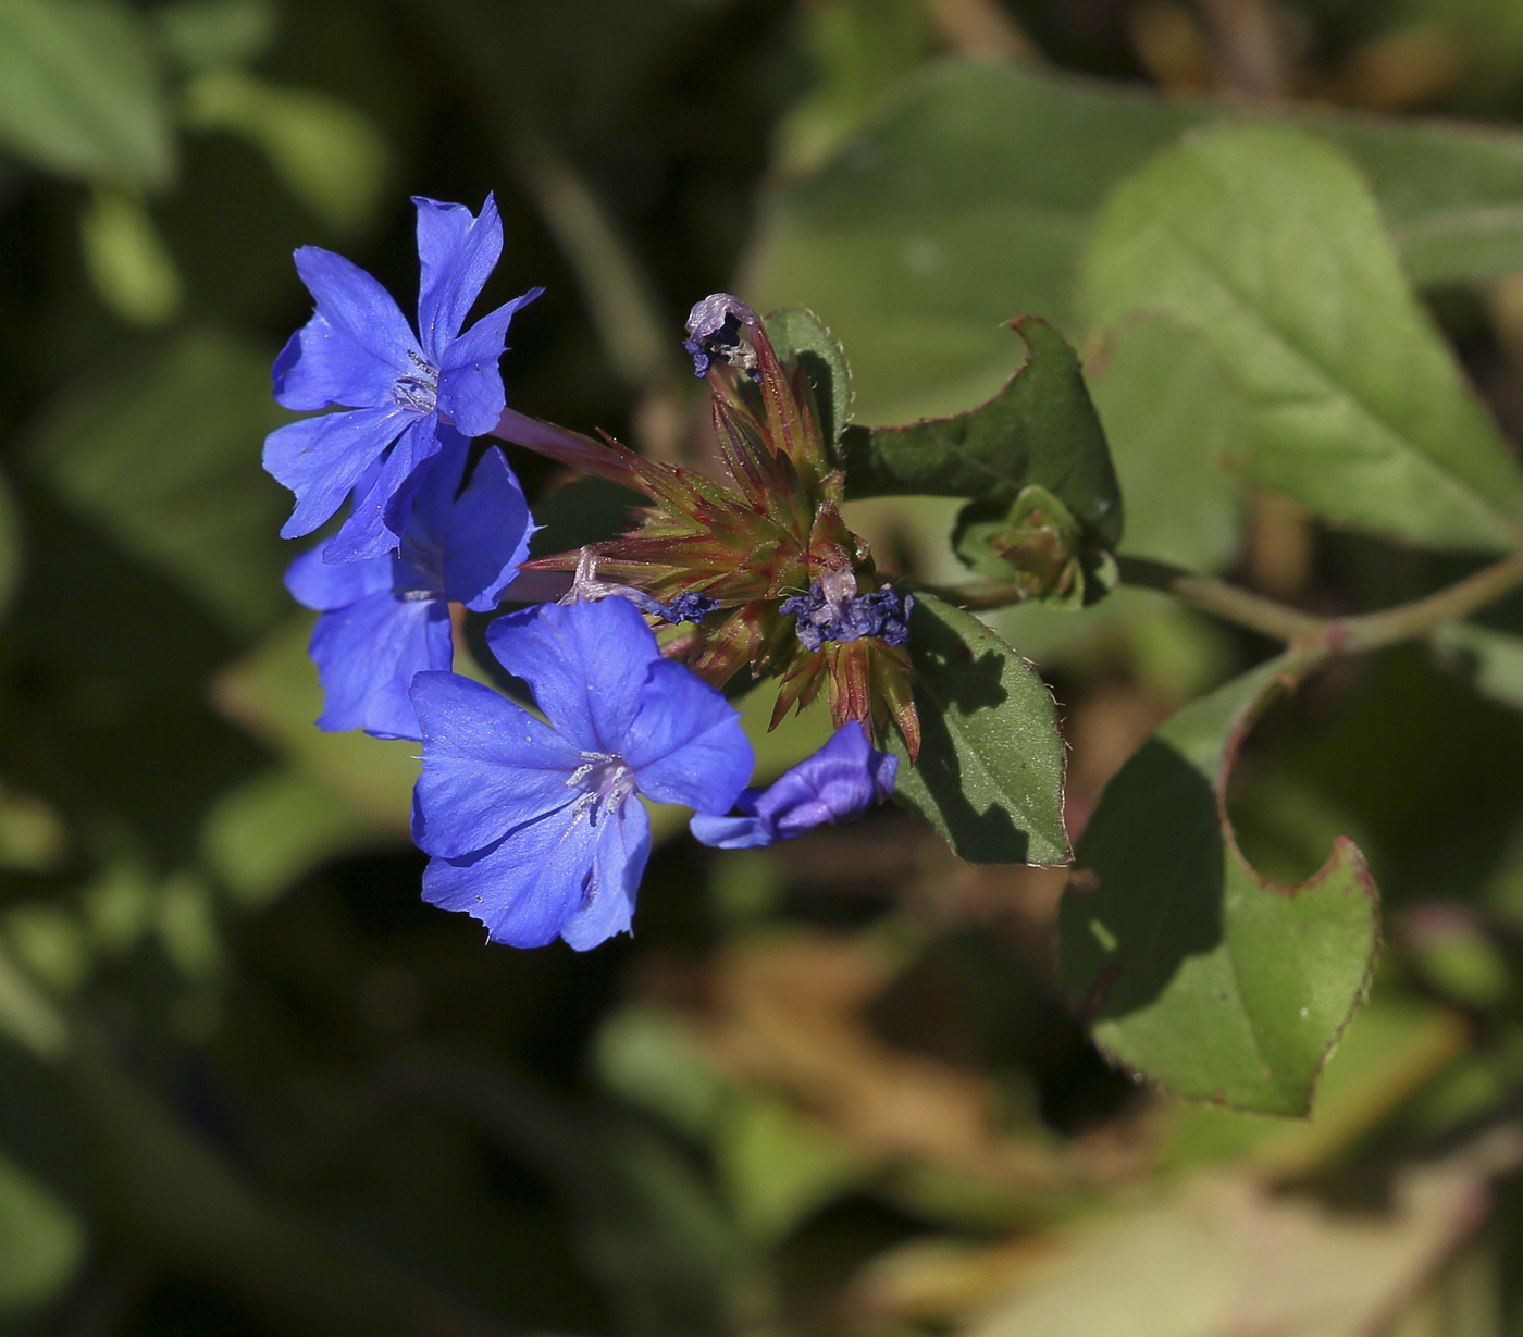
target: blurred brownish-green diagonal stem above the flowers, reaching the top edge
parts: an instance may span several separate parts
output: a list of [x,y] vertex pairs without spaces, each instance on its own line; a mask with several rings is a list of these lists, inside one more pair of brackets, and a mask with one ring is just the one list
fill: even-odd
[[652,391],[676,372],[676,340],[634,247],[576,164],[532,123],[513,94],[513,62],[490,40],[477,0],[417,0],[448,34],[451,56],[484,107],[503,168],[528,195],[576,276],[603,352],[631,390]]

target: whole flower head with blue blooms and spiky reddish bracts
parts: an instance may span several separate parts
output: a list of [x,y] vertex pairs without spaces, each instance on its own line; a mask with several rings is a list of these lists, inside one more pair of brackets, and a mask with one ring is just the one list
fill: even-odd
[[[701,302],[685,344],[713,390],[730,487],[509,411],[498,358],[541,289],[461,332],[503,250],[496,207],[414,204],[416,330],[367,273],[303,247],[317,311],[274,364],[282,405],[335,410],[265,442],[265,467],[295,493],[285,538],[344,512],[286,573],[320,614],[318,725],[422,742],[413,838],[431,856],[426,900],[481,920],[496,943],[586,949],[629,929],[650,851],[643,799],[693,809],[701,841],[736,848],[859,816],[892,792],[899,763],[868,729],[892,717],[914,755],[912,600],[842,524],[844,480],[809,384],[745,303]],[[471,445],[489,432],[652,504],[623,538],[525,562],[522,489],[501,449]],[[500,617],[487,644],[539,716],[449,672],[451,606],[490,612],[530,568],[573,571],[570,592]],[[755,758],[719,690],[745,665],[783,679],[774,725],[825,682],[838,723],[766,789],[746,789]]]

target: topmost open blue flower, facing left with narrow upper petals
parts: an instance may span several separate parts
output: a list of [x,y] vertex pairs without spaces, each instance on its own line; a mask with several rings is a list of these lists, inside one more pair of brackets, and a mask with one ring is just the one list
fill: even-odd
[[[463,204],[419,195],[413,203],[422,265],[416,333],[358,265],[320,247],[295,253],[317,312],[276,358],[274,394],[286,408],[343,411],[271,432],[265,469],[295,493],[285,539],[311,533],[353,493],[349,519],[323,548],[329,562],[379,557],[398,545],[419,466],[439,452],[442,420],[468,437],[496,426],[506,407],[496,361],[507,324],[544,291],[525,292],[460,333],[503,253],[496,204],[489,195],[474,218]],[[376,461],[381,467],[372,469]]]

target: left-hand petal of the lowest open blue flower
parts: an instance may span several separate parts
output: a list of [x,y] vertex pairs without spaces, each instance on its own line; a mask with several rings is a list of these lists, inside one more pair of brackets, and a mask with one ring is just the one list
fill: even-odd
[[413,839],[429,854],[463,857],[571,803],[580,752],[527,710],[454,673],[413,684],[423,774]]

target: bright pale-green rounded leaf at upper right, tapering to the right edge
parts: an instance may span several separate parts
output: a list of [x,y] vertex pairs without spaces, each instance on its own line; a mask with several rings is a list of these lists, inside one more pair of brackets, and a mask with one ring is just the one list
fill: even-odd
[[1249,481],[1397,539],[1515,542],[1523,472],[1336,149],[1240,125],[1161,154],[1097,221],[1083,289],[1101,324],[1200,333],[1252,407]]

